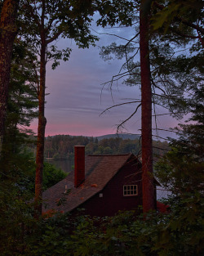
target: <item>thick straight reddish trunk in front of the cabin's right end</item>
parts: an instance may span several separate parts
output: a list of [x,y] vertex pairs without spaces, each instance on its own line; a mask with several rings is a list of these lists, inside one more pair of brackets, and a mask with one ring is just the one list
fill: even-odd
[[140,72],[142,102],[142,186],[143,212],[155,209],[153,186],[152,89],[149,64],[149,14],[151,1],[142,0],[140,8]]

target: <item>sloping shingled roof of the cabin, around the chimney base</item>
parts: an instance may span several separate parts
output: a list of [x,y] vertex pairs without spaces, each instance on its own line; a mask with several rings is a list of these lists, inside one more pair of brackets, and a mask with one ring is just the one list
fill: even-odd
[[[64,180],[51,186],[43,192],[42,198],[45,205],[43,211],[55,209],[69,212],[80,204],[100,192],[104,186],[118,173],[132,154],[128,155],[86,155],[85,159],[85,182],[77,188],[74,187],[74,172]],[[65,188],[70,190],[64,193]],[[57,206],[59,200],[64,199],[64,204]]]

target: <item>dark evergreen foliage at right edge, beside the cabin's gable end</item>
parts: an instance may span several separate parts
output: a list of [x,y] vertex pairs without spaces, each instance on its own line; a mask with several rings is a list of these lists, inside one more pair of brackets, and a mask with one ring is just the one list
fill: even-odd
[[185,192],[202,193],[203,187],[203,151],[204,151],[204,116],[202,86],[193,88],[190,101],[194,124],[182,124],[177,128],[180,137],[171,139],[171,150],[157,164],[157,177],[174,195],[182,196]]

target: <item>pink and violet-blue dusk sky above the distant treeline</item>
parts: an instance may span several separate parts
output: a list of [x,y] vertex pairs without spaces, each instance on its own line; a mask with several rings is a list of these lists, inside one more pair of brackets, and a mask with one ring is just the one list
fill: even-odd
[[[113,30],[96,29],[99,33],[113,33]],[[115,30],[114,33],[125,38],[130,38],[134,33],[132,29],[126,28]],[[72,52],[69,61],[61,61],[55,70],[51,70],[51,63],[47,64],[46,136],[69,134],[97,137],[116,133],[117,124],[135,111],[137,104],[131,104],[115,107],[101,115],[110,106],[140,98],[140,89],[128,87],[122,80],[113,84],[112,93],[109,84],[103,84],[118,74],[124,60],[104,61],[100,58],[100,46],[119,40],[107,34],[100,34],[96,47],[89,49],[78,49],[70,39],[58,41],[60,48],[70,47]],[[166,110],[157,108],[157,114],[161,113],[166,113]],[[174,128],[176,124],[178,122],[169,115],[157,119],[158,128]],[[37,132],[38,119],[33,121],[30,128]],[[140,134],[140,111],[126,124],[122,132]],[[158,135],[172,137],[174,133],[159,132]]]

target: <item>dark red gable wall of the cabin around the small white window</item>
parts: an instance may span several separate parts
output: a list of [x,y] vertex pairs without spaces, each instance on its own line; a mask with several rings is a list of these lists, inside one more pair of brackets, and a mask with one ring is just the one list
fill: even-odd
[[[111,172],[111,169],[110,169]],[[91,216],[113,216],[118,210],[137,209],[142,205],[141,164],[132,158],[126,163],[103,191],[87,200],[80,208]],[[138,195],[123,196],[123,185],[137,185]],[[103,194],[103,197],[100,197]]]

